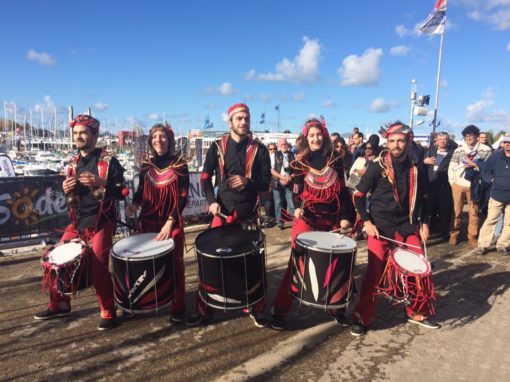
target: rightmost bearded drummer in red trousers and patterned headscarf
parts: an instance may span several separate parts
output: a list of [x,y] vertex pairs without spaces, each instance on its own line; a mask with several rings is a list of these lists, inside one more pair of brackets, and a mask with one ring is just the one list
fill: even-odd
[[[384,272],[385,259],[391,243],[385,236],[413,247],[410,250],[423,254],[421,241],[429,239],[428,205],[426,199],[426,173],[407,155],[411,129],[394,122],[381,129],[388,149],[371,162],[354,194],[354,204],[368,234],[368,266],[361,295],[353,313],[353,336],[363,336],[373,324],[376,313],[375,292]],[[371,193],[370,212],[365,208],[366,195]],[[406,248],[405,245],[403,248]],[[430,320],[429,303],[419,311],[406,306],[408,321],[429,329],[440,326]]]

